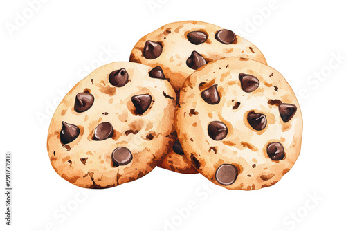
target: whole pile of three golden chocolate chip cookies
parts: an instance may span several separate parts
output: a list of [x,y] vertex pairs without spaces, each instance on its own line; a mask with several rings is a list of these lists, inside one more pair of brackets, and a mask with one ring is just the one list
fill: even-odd
[[301,138],[298,101],[260,50],[231,30],[182,21],[74,86],[47,147],[55,171],[80,187],[114,187],[158,165],[256,190],[289,172]]

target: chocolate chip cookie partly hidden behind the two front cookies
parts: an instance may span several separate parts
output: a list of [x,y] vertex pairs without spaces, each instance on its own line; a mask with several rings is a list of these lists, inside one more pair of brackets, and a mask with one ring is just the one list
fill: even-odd
[[[231,30],[201,21],[167,24],[145,35],[134,46],[130,61],[152,66],[152,76],[170,81],[179,97],[183,82],[197,68],[229,56],[246,57],[266,64],[260,50],[251,42]],[[197,173],[187,160],[171,149],[158,166],[174,172]]]

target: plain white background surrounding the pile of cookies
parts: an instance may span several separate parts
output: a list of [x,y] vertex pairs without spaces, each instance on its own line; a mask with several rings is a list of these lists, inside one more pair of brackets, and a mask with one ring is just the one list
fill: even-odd
[[[41,0],[30,14],[32,1],[0,3],[1,192],[6,151],[14,189],[11,227],[0,196],[1,230],[345,230],[345,1]],[[108,190],[60,178],[46,135],[61,95],[98,66],[127,61],[147,33],[182,20],[250,40],[300,95],[304,136],[291,172],[254,192],[159,168]]]

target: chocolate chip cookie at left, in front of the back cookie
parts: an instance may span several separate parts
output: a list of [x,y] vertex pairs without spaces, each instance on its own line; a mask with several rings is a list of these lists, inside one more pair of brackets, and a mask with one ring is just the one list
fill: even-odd
[[176,137],[174,90],[130,62],[102,66],[57,107],[47,149],[55,172],[86,188],[114,187],[149,173]]

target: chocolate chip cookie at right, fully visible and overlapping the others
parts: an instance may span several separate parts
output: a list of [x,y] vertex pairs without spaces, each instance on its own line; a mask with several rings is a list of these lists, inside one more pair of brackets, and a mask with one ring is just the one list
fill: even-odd
[[219,59],[190,75],[176,127],[194,167],[229,190],[274,185],[300,154],[302,114],[293,90],[251,59]]

